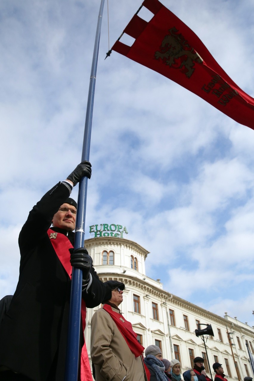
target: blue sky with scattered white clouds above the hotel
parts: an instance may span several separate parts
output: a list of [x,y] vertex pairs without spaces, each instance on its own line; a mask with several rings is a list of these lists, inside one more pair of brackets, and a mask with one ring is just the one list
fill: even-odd
[[[252,0],[162,2],[253,97]],[[0,297],[16,288],[29,210],[80,162],[99,3],[0,3]],[[116,52],[104,60],[140,5],[109,0],[109,43],[105,2],[86,237],[126,226],[165,290],[254,325],[254,131]]]

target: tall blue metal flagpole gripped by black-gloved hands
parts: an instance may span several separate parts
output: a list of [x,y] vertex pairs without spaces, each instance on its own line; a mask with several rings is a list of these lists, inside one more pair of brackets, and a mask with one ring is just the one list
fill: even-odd
[[[97,21],[96,36],[94,42],[93,61],[91,67],[91,76],[88,91],[88,101],[86,106],[85,131],[83,138],[83,150],[81,161],[89,160],[91,129],[93,117],[94,88],[96,80],[97,60],[99,51],[99,42],[101,35],[101,21],[104,7],[104,0],[101,0],[99,16]],[[88,178],[83,177],[79,182],[78,188],[78,208],[76,217],[74,249],[84,246],[85,240],[85,217],[86,217],[86,196],[87,196]],[[81,324],[81,288],[82,288],[82,270],[72,269],[72,286],[70,295],[70,320],[68,331],[67,357],[65,367],[65,381],[77,381],[78,379],[78,361],[79,361],[79,343],[80,343],[80,324]],[[83,380],[82,380],[83,381]]]

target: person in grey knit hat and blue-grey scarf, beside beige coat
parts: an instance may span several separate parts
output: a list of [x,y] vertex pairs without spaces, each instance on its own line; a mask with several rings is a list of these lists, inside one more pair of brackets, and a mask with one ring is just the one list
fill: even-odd
[[150,381],[168,381],[165,375],[161,349],[157,345],[149,345],[145,350],[144,363],[150,372]]

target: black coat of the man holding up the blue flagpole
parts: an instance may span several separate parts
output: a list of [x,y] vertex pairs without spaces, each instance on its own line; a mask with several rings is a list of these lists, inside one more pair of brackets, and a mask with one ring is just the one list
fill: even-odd
[[[69,195],[59,182],[30,211],[19,234],[18,285],[0,326],[0,365],[36,381],[64,379],[71,282],[47,231]],[[82,297],[91,308],[101,303],[105,287],[93,267],[90,273],[93,282]]]

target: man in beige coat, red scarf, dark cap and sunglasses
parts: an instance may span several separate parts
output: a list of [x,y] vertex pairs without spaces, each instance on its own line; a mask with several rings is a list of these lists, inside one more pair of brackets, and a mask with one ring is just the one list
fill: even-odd
[[96,381],[147,381],[142,352],[131,323],[121,315],[125,285],[104,283],[104,305],[91,319],[91,359]]

